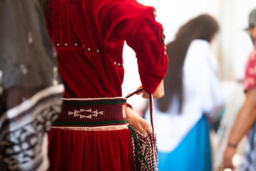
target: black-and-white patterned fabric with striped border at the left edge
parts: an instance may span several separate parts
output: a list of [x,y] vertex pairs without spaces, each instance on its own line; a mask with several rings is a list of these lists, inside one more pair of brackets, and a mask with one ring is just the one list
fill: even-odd
[[40,90],[0,116],[0,170],[46,170],[47,132],[61,112],[63,85]]

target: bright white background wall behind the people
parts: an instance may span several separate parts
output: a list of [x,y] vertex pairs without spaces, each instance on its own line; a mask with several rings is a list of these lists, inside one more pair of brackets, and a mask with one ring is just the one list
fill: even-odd
[[[176,31],[189,19],[200,14],[210,14],[220,23],[220,33],[213,42],[213,51],[220,62],[221,76],[225,80],[242,80],[247,56],[252,50],[249,36],[243,30],[247,26],[248,15],[256,8],[255,0],[140,0],[141,4],[154,6],[157,21],[163,24],[165,43],[175,37]],[[135,53],[127,46],[124,49],[123,95],[138,86],[138,68]],[[128,100],[140,112],[145,100],[140,97]]]

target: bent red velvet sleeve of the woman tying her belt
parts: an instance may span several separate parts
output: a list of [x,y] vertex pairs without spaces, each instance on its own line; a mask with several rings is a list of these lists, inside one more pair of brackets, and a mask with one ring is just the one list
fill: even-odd
[[135,51],[140,81],[148,93],[155,92],[168,68],[163,26],[155,21],[154,10],[135,0],[106,0],[96,14],[108,48],[125,40]]

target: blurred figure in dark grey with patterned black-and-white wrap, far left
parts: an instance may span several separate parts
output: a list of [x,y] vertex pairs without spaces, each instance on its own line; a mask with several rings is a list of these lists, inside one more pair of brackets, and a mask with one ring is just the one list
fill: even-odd
[[56,50],[38,0],[0,1],[0,170],[47,170],[61,111]]

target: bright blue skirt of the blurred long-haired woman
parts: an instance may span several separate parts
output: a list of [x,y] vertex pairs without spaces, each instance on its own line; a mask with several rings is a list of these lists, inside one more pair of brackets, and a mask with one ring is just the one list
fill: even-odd
[[160,171],[211,171],[209,125],[205,115],[175,150],[158,151],[158,157]]

